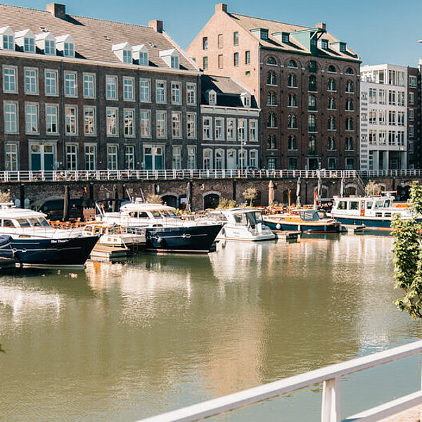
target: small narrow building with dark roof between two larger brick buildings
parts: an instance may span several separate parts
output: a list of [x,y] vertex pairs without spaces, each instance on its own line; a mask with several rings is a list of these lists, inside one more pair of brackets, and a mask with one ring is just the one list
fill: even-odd
[[203,75],[200,114],[203,169],[258,167],[260,110],[248,88],[231,77]]

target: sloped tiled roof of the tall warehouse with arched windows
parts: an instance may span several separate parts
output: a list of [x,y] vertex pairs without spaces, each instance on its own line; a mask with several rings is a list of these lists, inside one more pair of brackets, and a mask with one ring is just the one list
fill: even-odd
[[[227,14],[248,32],[250,32],[251,30],[256,30],[257,28],[268,30],[268,34],[269,34],[268,40],[257,39],[260,42],[260,44],[264,47],[267,47],[269,49],[282,49],[286,51],[294,51],[297,53],[310,53],[309,50],[305,49],[305,47],[302,46],[298,41],[293,39],[293,37],[290,37],[290,42],[288,44],[283,44],[281,43],[281,41],[279,41],[279,39],[276,39],[276,37],[274,37],[272,34],[276,32],[288,32],[291,34],[292,32],[295,32],[295,31],[312,30],[314,29],[312,27],[292,25],[290,23],[277,22],[276,20],[253,18],[252,16],[239,15],[238,13],[227,13]],[[326,34],[324,34],[322,38],[327,39],[328,43],[341,41],[335,38],[333,34],[330,34],[329,32],[326,32]],[[347,58],[350,60],[360,60],[359,56],[357,56],[357,54],[354,53],[354,51],[352,51],[352,49],[350,49],[349,47],[347,47],[347,51],[345,53],[335,51],[334,49],[329,49],[329,50],[319,49],[319,53],[321,53],[321,56],[330,56],[333,58],[335,57]]]

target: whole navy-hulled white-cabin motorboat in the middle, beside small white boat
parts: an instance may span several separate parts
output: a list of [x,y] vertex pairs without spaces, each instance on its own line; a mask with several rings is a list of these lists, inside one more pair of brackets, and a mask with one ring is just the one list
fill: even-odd
[[104,212],[97,201],[97,221],[117,224],[127,231],[145,229],[146,250],[152,252],[210,252],[222,224],[183,220],[173,207],[146,203],[136,198],[120,207],[120,212]]

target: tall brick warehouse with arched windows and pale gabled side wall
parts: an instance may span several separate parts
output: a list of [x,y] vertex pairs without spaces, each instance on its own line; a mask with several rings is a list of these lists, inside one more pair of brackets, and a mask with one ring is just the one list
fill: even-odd
[[187,52],[209,75],[231,76],[261,109],[261,165],[330,170],[359,165],[360,58],[326,25],[215,14]]

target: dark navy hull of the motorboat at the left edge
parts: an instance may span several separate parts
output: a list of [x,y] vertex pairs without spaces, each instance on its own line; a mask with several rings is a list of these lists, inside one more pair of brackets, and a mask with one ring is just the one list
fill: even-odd
[[14,258],[20,264],[83,265],[97,241],[97,236],[14,238],[10,250],[0,249],[0,257]]

